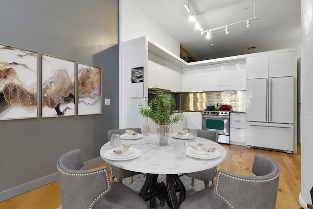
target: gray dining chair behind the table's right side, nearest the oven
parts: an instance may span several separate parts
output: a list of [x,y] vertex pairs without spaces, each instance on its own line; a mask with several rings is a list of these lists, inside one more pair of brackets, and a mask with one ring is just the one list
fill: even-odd
[[[189,130],[188,128],[185,128]],[[197,136],[204,138],[204,139],[209,139],[215,142],[219,141],[219,133],[216,131],[210,131],[210,130],[201,130],[201,129],[196,129],[197,131]],[[194,185],[194,179],[199,179],[204,182],[204,188],[207,188],[209,186],[210,181],[212,181],[212,186],[214,185],[214,177],[216,175],[216,170],[217,166],[207,169],[207,170],[202,170],[198,172],[193,172],[193,173],[185,173],[185,176],[191,177],[191,185]]]

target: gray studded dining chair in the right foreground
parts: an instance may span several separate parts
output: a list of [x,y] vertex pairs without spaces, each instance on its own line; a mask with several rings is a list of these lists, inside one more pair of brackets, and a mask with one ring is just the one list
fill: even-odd
[[278,164],[257,154],[252,172],[256,176],[219,169],[215,186],[189,196],[179,209],[275,209],[280,174]]

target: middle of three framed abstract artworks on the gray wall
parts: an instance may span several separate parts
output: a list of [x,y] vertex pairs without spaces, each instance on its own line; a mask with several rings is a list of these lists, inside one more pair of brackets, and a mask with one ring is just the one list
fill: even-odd
[[42,54],[42,117],[75,115],[75,62]]

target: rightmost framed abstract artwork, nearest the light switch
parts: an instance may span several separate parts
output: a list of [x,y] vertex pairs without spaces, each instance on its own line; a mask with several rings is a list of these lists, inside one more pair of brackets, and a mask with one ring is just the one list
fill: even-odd
[[101,68],[77,63],[77,115],[101,114]]

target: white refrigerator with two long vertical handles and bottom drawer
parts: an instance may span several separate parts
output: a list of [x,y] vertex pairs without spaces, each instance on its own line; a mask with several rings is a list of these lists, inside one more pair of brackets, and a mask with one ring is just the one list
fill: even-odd
[[283,150],[294,146],[294,78],[246,81],[246,146]]

